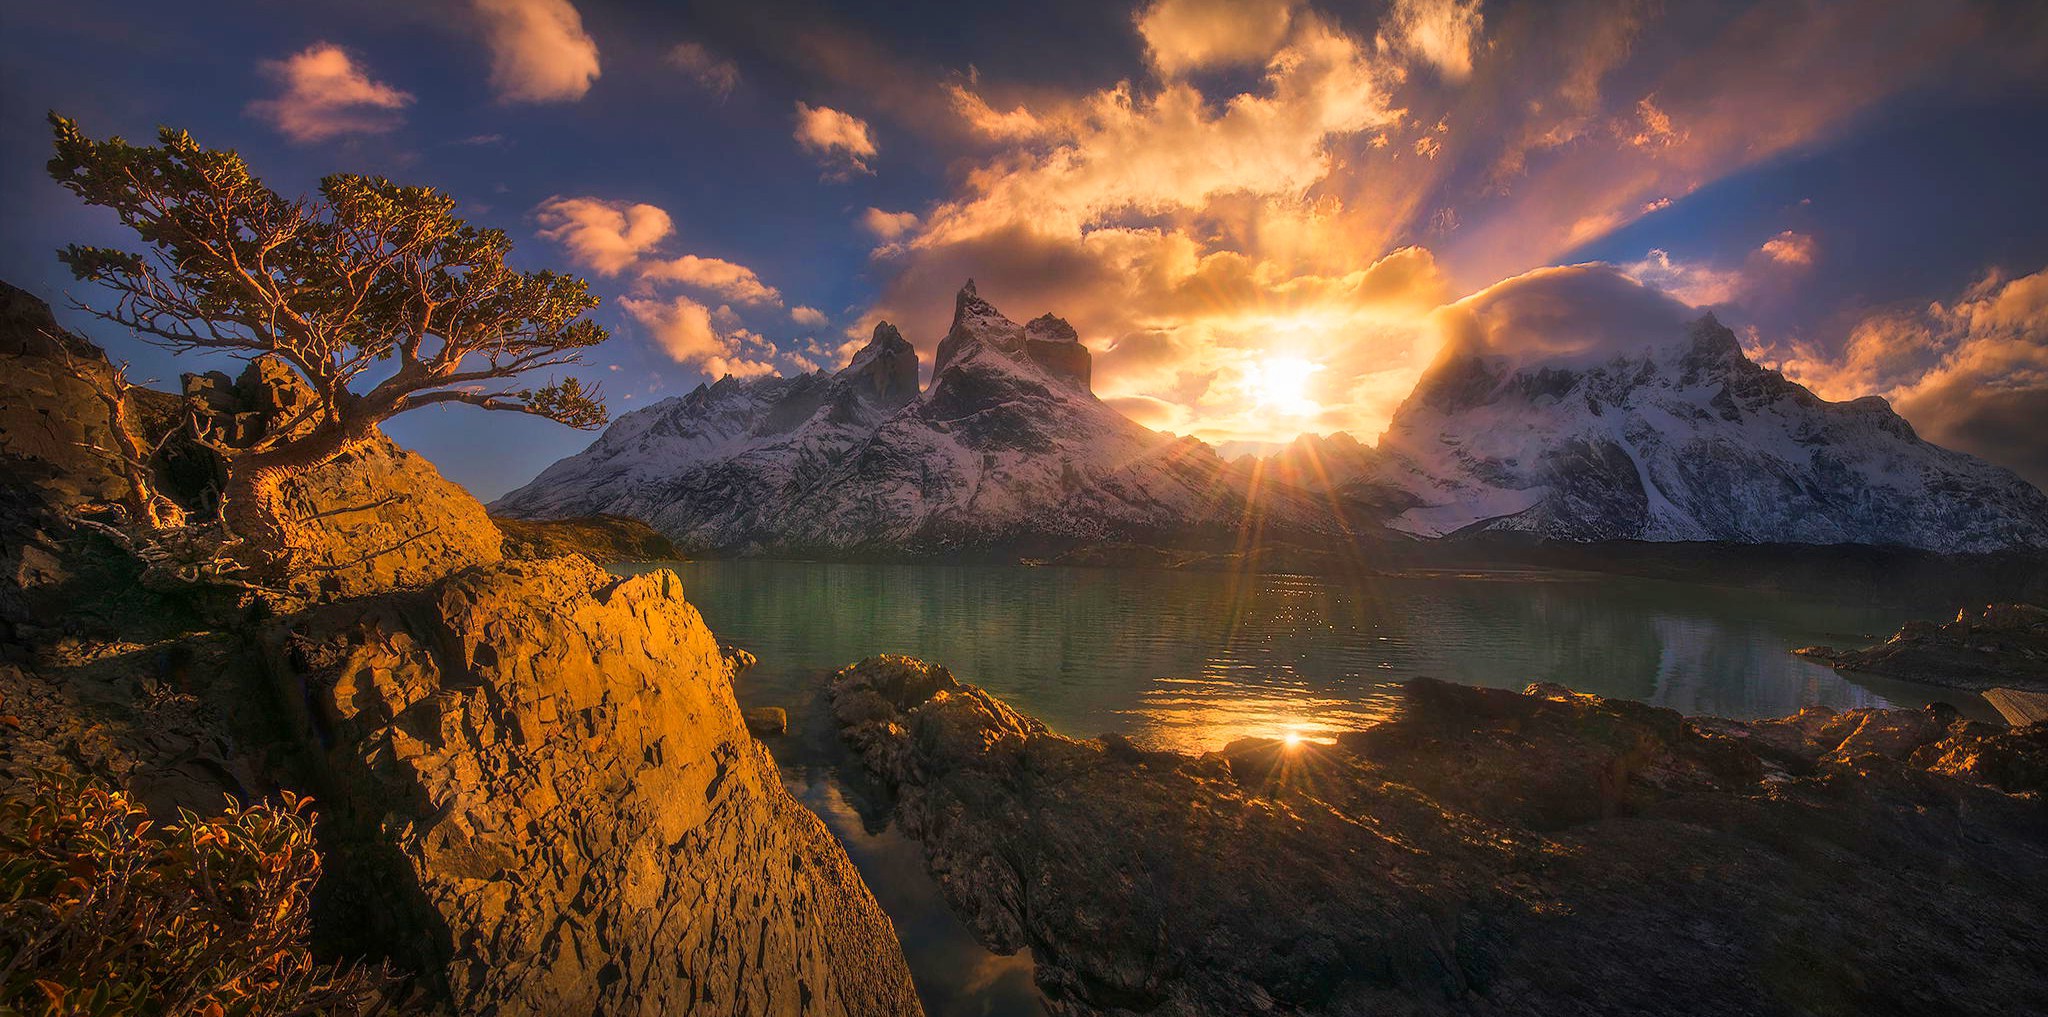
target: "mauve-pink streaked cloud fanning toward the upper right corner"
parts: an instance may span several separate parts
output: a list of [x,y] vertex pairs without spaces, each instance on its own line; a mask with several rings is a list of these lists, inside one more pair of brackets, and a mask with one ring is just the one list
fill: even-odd
[[[1473,227],[1438,254],[1466,280],[1520,272],[1657,201],[1835,137],[1905,92],[1989,84],[2040,45],[2038,31],[1999,35],[1997,23],[1964,0],[1493,8],[1487,74],[1470,80],[1483,94],[1462,96],[1503,125],[1483,174],[1493,198],[1468,207]],[[1468,176],[1458,166],[1434,186]]]

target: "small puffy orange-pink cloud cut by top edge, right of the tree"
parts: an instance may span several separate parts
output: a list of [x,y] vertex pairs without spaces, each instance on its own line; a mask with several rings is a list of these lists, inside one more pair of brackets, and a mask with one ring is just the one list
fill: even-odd
[[598,43],[569,0],[471,0],[500,102],[569,102],[598,80]]

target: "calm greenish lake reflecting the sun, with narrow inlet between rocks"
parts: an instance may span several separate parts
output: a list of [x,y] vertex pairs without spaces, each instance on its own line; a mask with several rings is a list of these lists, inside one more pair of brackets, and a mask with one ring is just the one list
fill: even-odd
[[[1686,714],[1919,706],[1982,716],[1974,694],[1849,681],[1792,657],[1858,645],[1954,606],[1829,604],[1561,571],[1325,581],[1120,569],[705,561],[670,567],[719,640],[760,663],[743,706],[784,706],[791,794],[846,843],[903,937],[932,1017],[1042,1013],[1030,958],[997,958],[944,909],[831,728],[821,688],[874,653],[940,661],[1073,737],[1204,751],[1245,737],[1329,739],[1384,716],[1399,681],[1556,681]],[[1970,702],[1960,702],[1970,700]]]

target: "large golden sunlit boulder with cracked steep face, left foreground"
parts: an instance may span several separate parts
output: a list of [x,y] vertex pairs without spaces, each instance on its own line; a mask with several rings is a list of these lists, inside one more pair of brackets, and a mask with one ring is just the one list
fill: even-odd
[[[475,569],[270,632],[360,888],[461,1013],[920,1013],[889,919],[741,722],[674,573]],[[422,935],[424,933],[424,935]]]

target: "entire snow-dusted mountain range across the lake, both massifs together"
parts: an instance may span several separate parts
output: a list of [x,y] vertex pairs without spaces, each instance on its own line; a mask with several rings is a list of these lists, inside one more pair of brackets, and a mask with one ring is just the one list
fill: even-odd
[[1452,340],[1376,448],[1303,436],[1225,462],[1096,399],[1067,321],[1018,325],[969,282],[924,391],[915,350],[881,323],[838,372],[727,377],[627,413],[492,510],[631,516],[727,555],[1473,532],[2048,546],[2048,495],[1919,440],[1882,399],[1829,403],[1751,362],[1712,315],[1653,331],[1667,334],[1540,354]]

